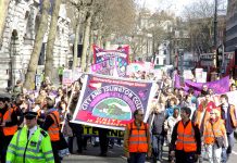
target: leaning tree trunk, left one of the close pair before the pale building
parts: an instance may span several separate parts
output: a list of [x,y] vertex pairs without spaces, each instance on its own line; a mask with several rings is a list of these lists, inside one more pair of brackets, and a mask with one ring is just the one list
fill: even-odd
[[33,53],[30,55],[28,70],[25,77],[24,87],[27,89],[34,89],[34,80],[35,80],[35,74],[37,70],[37,64],[39,60],[40,50],[42,47],[42,39],[46,34],[47,27],[48,27],[48,12],[49,12],[50,3],[48,0],[43,0],[42,2],[42,15],[39,23],[39,28],[37,30],[35,45],[33,49]]

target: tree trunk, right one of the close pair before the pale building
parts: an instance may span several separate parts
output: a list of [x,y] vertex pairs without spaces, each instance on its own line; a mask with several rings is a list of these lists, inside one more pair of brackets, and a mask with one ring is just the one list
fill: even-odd
[[53,4],[51,24],[50,24],[49,36],[47,40],[47,49],[46,49],[46,64],[45,64],[46,76],[52,76],[53,47],[55,42],[57,25],[58,25],[61,0],[57,0],[53,3],[54,4]]

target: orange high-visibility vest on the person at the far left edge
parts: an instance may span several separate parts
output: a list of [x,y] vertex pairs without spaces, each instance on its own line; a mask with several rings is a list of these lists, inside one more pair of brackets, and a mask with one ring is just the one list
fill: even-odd
[[[12,122],[12,113],[14,109],[10,108],[3,115],[3,123]],[[4,136],[11,136],[14,135],[17,130],[17,125],[15,124],[14,126],[9,126],[9,127],[3,127],[3,134]]]

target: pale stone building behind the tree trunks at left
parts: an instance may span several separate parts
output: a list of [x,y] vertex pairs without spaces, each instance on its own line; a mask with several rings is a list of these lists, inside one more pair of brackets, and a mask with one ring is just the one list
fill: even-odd
[[[40,22],[40,8],[41,0],[10,1],[2,35],[2,46],[0,47],[0,88],[12,86],[17,79],[24,79],[25,77]],[[65,4],[61,4],[53,49],[52,68],[54,71],[62,64],[66,65],[72,58],[68,45],[70,23]],[[42,68],[45,64],[48,32],[43,38],[37,70]]]

